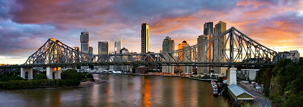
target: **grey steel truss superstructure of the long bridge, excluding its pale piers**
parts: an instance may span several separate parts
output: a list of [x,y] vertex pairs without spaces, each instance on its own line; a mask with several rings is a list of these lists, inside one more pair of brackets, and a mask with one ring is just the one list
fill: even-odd
[[[226,39],[226,41],[224,41]],[[218,46],[218,43],[222,46]],[[214,51],[214,52],[209,52]],[[234,27],[218,36],[179,50],[162,53],[89,55],[49,38],[23,65],[3,68],[160,65],[205,67],[273,67],[282,58]]]

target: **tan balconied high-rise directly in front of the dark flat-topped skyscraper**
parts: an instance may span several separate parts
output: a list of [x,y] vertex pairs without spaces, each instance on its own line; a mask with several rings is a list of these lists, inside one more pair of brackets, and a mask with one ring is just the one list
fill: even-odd
[[[197,43],[203,43],[208,40],[207,35],[200,35],[197,38]],[[197,57],[201,62],[209,62],[208,49],[211,49],[209,45],[201,45],[197,47]],[[208,73],[208,67],[197,67],[197,74]]]

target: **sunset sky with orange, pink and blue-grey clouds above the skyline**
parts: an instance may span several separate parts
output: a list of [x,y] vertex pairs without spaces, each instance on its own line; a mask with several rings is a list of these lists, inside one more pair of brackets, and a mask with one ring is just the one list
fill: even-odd
[[23,64],[48,38],[80,47],[86,23],[89,45],[122,38],[140,52],[141,24],[149,24],[149,50],[166,36],[196,44],[205,22],[227,23],[276,51],[303,53],[303,1],[0,1],[0,64]]

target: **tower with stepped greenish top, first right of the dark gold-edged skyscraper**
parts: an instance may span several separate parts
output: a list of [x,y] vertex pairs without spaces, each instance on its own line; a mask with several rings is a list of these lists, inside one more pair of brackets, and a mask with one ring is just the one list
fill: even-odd
[[[170,52],[170,51],[174,51],[174,49],[175,49],[174,40],[172,40],[172,38],[170,38],[169,36],[166,36],[165,39],[163,40],[162,52]],[[165,55],[164,57],[167,59],[167,61],[172,60],[170,59],[169,56]],[[174,74],[174,66],[162,66],[162,72]]]

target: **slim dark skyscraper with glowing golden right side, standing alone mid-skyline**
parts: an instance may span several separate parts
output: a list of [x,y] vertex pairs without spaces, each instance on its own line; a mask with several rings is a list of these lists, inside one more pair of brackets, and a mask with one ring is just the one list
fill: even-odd
[[141,24],[141,53],[149,51],[149,26],[147,23]]

